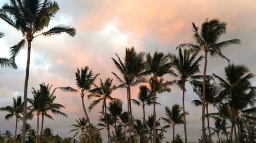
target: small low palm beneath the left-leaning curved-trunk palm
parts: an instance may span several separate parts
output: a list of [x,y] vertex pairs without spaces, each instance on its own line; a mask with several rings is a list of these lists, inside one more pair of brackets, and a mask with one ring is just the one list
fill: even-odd
[[77,124],[72,124],[71,125],[71,127],[74,127],[75,129],[70,130],[69,133],[76,131],[76,133],[72,137],[72,138],[74,138],[79,133],[79,130],[80,130],[81,131],[82,142],[83,142],[84,141],[84,138],[83,138],[84,129],[86,128],[86,126],[88,124],[88,121],[84,117],[82,117],[82,119],[79,118],[78,120],[76,120]]

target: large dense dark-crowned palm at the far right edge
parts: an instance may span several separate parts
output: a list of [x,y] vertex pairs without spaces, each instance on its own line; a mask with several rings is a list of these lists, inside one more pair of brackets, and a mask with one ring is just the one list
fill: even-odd
[[225,79],[216,74],[214,76],[220,81],[222,88],[219,96],[223,97],[229,108],[231,118],[230,142],[232,143],[233,130],[237,142],[235,123],[238,119],[238,113],[246,109],[248,105],[254,106],[256,92],[255,87],[251,87],[249,81],[254,75],[249,73],[249,70],[243,65],[229,64],[225,67]]

